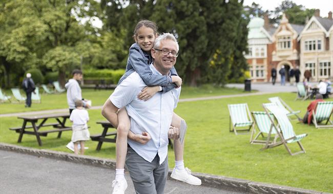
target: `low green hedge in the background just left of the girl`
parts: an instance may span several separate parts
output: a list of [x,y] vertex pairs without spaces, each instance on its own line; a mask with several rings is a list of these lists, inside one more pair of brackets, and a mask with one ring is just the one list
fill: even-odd
[[117,84],[125,69],[89,69],[84,71],[85,80],[105,80],[106,83]]

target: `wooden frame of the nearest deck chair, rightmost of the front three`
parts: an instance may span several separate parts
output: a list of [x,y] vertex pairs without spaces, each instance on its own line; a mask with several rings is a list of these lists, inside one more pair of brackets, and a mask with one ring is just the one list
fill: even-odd
[[[281,109],[281,108],[280,108],[278,105],[276,105],[275,103],[264,103],[264,104],[262,104],[262,106],[263,106],[263,108],[264,108],[264,110],[265,110],[265,112],[266,112],[267,115],[270,114],[270,111],[268,110],[267,106],[275,106],[275,107]],[[282,111],[281,111],[281,113],[282,113]],[[276,114],[274,114],[274,113],[273,113],[273,115],[274,115],[274,118],[275,118],[275,119],[273,119],[273,118],[270,117],[270,116],[268,116],[268,117],[269,117],[269,119],[270,119],[270,122],[272,122],[272,124],[273,124],[273,128],[274,128],[274,130],[277,132],[277,134],[278,134],[278,136],[279,136],[280,139],[279,139],[279,141],[277,141],[277,142],[275,142],[275,143],[269,143],[269,142],[267,141],[267,143],[265,144],[265,147],[263,148],[263,150],[268,149],[268,148],[274,148],[274,147],[277,147],[277,146],[281,146],[281,145],[283,144],[283,146],[285,147],[285,149],[287,150],[287,152],[288,152],[291,156],[294,156],[294,155],[297,155],[297,154],[301,154],[301,153],[305,153],[305,150],[304,150],[304,148],[303,148],[302,143],[300,142],[300,140],[301,140],[303,137],[307,136],[307,134],[295,135],[295,136],[293,136],[293,137],[290,137],[290,138],[285,139],[284,136],[283,136],[283,129],[279,130],[280,127],[282,127],[282,126],[280,126],[280,124],[279,124],[279,122],[278,122],[278,118],[277,118],[278,115],[276,115]],[[282,117],[283,117],[283,116],[286,116],[286,115],[279,115],[279,116],[282,116]],[[286,116],[286,117],[287,117],[287,116]],[[275,120],[277,120],[276,123],[275,123]],[[286,119],[286,120],[288,120],[288,122],[290,123],[289,119]],[[290,125],[291,125],[291,123],[290,123]],[[295,132],[294,132],[294,134],[295,134]],[[299,138],[299,137],[300,137],[300,138]],[[291,142],[297,142],[297,144],[298,144],[298,146],[300,147],[301,151],[296,152],[296,153],[292,153],[292,151],[291,151],[291,150],[289,149],[289,147],[287,146],[288,141],[291,141]]]

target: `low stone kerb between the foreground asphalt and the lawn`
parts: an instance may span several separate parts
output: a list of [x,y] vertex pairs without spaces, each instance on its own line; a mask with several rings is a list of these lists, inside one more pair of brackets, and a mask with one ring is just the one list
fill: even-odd
[[[16,146],[8,143],[0,143],[0,150],[18,152],[23,154],[34,155],[38,157],[48,157],[57,160],[65,160],[69,162],[93,165],[105,168],[116,168],[116,162],[111,159],[98,158],[92,156],[80,156],[71,153],[57,152],[43,149],[26,148],[22,146]],[[169,169],[169,176],[172,170]],[[209,175],[204,173],[192,173],[202,180],[203,186],[209,186],[214,188],[221,188],[227,190],[236,190],[244,193],[288,193],[288,194],[319,194],[325,193],[315,190],[307,190],[303,188],[295,188],[288,186],[280,186],[275,184],[267,184],[260,182],[252,182],[249,180],[236,179],[224,176]]]

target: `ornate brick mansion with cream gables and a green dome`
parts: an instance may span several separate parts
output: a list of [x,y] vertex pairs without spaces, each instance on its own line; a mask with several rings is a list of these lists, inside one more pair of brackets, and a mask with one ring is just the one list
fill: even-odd
[[[333,81],[332,12],[327,18],[322,18],[317,9],[304,26],[289,23],[283,14],[277,28],[269,24],[267,15],[264,19],[254,17],[248,28],[248,54],[245,58],[252,82],[269,82],[272,68],[279,72],[282,65],[286,70],[299,66],[300,82],[306,69],[311,71],[310,81]],[[280,81],[279,73],[276,79]],[[286,81],[289,81],[287,74]]]

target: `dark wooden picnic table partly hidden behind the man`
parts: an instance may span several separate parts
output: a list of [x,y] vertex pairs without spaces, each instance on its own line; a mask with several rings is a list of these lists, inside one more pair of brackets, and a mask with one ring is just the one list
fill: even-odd
[[[97,124],[102,125],[103,131],[101,134],[90,135],[91,140],[98,141],[96,150],[100,150],[103,142],[115,143],[117,139],[117,131],[108,132],[109,128],[114,128],[113,125],[108,121],[96,122]],[[113,138],[107,138],[107,136],[114,136]]]

